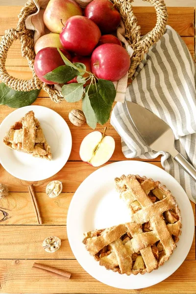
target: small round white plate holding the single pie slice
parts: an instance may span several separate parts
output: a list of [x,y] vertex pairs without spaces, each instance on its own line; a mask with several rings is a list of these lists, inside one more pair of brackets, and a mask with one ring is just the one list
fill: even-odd
[[[33,157],[5,146],[3,137],[15,122],[33,110],[51,147],[52,160]],[[66,164],[72,149],[72,135],[65,120],[55,111],[30,105],[10,113],[0,124],[0,163],[13,176],[25,181],[41,181],[59,172]]]

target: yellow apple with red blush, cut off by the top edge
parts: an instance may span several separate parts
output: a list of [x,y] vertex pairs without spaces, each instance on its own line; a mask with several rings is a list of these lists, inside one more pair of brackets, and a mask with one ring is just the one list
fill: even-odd
[[73,15],[82,15],[81,7],[74,0],[49,0],[44,12],[44,23],[52,33],[60,33],[62,23],[65,24]]

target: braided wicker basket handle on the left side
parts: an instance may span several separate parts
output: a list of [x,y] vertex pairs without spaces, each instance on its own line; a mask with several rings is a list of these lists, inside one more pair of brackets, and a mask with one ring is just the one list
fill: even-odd
[[[26,57],[28,65],[33,73],[33,77],[29,80],[15,78],[10,75],[5,68],[7,52],[12,43],[17,39],[19,39],[21,42],[22,56]],[[41,89],[43,85],[43,83],[36,76],[33,68],[35,53],[32,49],[32,42],[33,37],[30,30],[17,31],[13,28],[10,28],[6,31],[0,42],[0,80],[8,87],[16,91],[31,91]],[[26,44],[28,44],[29,47],[26,47]]]

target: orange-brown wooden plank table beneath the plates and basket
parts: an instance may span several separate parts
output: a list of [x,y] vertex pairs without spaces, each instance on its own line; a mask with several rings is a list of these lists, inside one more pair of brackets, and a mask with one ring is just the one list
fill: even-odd
[[[3,35],[5,29],[16,26],[20,9],[19,6],[0,7],[0,35]],[[156,22],[154,9],[135,7],[134,10],[142,26],[142,34],[147,33]],[[169,8],[168,11],[169,25],[172,25],[182,36],[194,58],[194,8],[175,7]],[[19,42],[15,42],[10,49],[6,65],[12,75],[21,78],[31,77],[27,62],[21,57]],[[80,143],[92,130],[87,124],[79,128],[70,123],[68,114],[74,108],[81,108],[78,102],[55,104],[51,102],[46,92],[41,91],[34,104],[49,107],[66,120],[72,132],[73,148],[68,163],[60,172],[50,179],[34,182],[43,225],[37,224],[27,193],[27,186],[30,183],[14,178],[0,166],[0,183],[7,184],[11,191],[7,198],[0,200],[0,293],[196,293],[195,239],[186,260],[172,276],[143,290],[124,291],[106,286],[80,267],[68,242],[66,219],[75,190],[89,174],[96,170],[81,162],[79,158]],[[13,110],[0,105],[0,122]],[[113,136],[116,142],[116,149],[110,163],[124,160],[120,136],[110,123],[107,123],[107,127],[107,134]],[[103,127],[98,125],[98,130],[102,131]],[[150,163],[161,168],[160,158]],[[54,179],[63,182],[63,193],[51,199],[46,195],[45,189],[47,183]],[[192,203],[192,207],[195,214],[195,204]],[[6,220],[2,220],[3,211],[8,213]],[[43,240],[51,235],[58,236],[62,240],[61,248],[54,254],[49,254],[42,248]],[[31,269],[35,261],[71,271],[72,278],[65,281]]]

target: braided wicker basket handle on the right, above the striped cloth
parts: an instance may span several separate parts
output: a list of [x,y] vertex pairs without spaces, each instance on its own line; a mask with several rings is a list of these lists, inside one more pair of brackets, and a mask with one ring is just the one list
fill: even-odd
[[148,51],[148,48],[156,43],[164,34],[168,13],[164,0],[143,0],[152,4],[156,10],[157,21],[155,27],[147,34],[147,36],[140,40],[140,45],[144,49],[144,52]]

